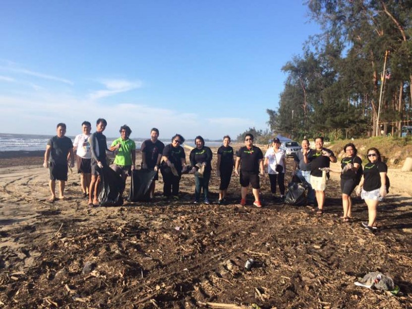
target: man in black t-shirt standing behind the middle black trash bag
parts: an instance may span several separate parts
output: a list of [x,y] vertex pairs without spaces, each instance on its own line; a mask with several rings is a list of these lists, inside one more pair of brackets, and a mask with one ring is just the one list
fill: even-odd
[[[152,128],[150,130],[150,139],[145,140],[142,143],[142,169],[154,170],[158,173],[160,168],[160,160],[162,159],[163,149],[165,144],[159,139],[159,130],[157,128]],[[156,174],[150,185],[150,198],[153,198],[155,194],[155,181],[159,179],[159,175]]]

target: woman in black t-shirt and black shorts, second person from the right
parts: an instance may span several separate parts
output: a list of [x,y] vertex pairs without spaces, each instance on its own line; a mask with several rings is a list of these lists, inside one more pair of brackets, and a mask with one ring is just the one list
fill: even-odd
[[357,149],[353,143],[346,144],[344,147],[346,157],[341,161],[341,190],[342,206],[344,214],[341,219],[349,222],[352,218],[352,198],[351,194],[356,187],[356,173],[362,168],[362,160],[357,156]]

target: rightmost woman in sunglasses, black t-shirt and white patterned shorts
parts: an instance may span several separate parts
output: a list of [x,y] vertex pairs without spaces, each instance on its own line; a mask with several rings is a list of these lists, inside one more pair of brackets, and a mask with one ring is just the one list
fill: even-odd
[[386,196],[386,173],[388,167],[382,162],[379,150],[372,147],[367,151],[369,163],[363,169],[363,177],[356,188],[356,194],[365,200],[368,206],[368,223],[362,222],[367,232],[374,232],[376,226],[376,208],[379,202]]

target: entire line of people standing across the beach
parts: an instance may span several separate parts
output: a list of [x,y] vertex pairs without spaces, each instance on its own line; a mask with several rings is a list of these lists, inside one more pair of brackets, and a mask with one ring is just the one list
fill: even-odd
[[[96,122],[96,131],[91,133],[91,124],[87,121],[82,123],[82,133],[78,134],[74,143],[70,138],[64,136],[65,124],[57,125],[57,135],[52,137],[47,144],[44,166],[49,168],[51,201],[56,197],[56,180],[59,180],[59,199],[65,199],[64,185],[67,181],[68,164],[74,167],[77,163],[78,173],[81,175],[81,188],[84,197],[88,197],[88,206],[99,204],[100,175],[103,168],[108,167],[106,152],[116,154],[115,161],[110,167],[126,181],[127,176],[135,169],[136,145],[129,138],[131,129],[122,125],[119,129],[120,137],[115,139],[111,146],[107,147],[106,136],[103,131],[107,126],[105,119],[99,118]],[[212,173],[212,151],[205,146],[202,136],[196,136],[195,147],[189,154],[190,164],[186,164],[186,155],[183,147],[184,138],[180,134],[172,137],[171,143],[165,145],[159,139],[159,130],[152,128],[150,139],[141,145],[142,169],[161,172],[163,176],[163,195],[166,198],[178,199],[179,183],[182,173],[189,172],[195,176],[194,203],[204,202],[209,204],[209,182]],[[254,197],[253,205],[261,207],[260,201],[260,177],[269,175],[271,192],[276,199],[285,197],[285,172],[286,154],[280,148],[281,142],[278,138],[272,140],[271,147],[265,155],[262,150],[253,144],[253,135],[247,133],[244,136],[244,146],[234,153],[230,146],[231,138],[223,137],[223,145],[217,151],[216,174],[220,177],[219,204],[226,203],[226,196],[233,169],[239,177],[241,185],[240,204],[246,205],[246,196],[249,185],[252,187]],[[308,186],[307,199],[309,204],[316,204],[317,214],[323,213],[325,204],[325,189],[329,179],[330,163],[337,162],[333,151],[323,147],[323,137],[315,138],[315,149],[310,149],[309,140],[304,139],[301,150],[294,155],[292,174],[305,182]],[[76,152],[76,157],[74,156]],[[362,223],[366,230],[376,229],[376,207],[380,200],[386,195],[388,179],[386,177],[387,166],[382,162],[379,151],[370,148],[367,151],[368,163],[362,169],[362,160],[357,156],[357,150],[353,143],[345,145],[346,156],[341,161],[341,189],[343,216],[342,220],[348,222],[352,218],[351,194],[356,188],[368,206],[369,220]],[[234,157],[236,158],[234,160]],[[76,160],[75,160],[76,159]],[[362,173],[363,171],[363,173]],[[155,192],[156,174],[150,185],[150,198]],[[360,183],[359,183],[360,182]],[[277,186],[280,195],[276,196]],[[203,195],[202,195],[203,192]],[[202,196],[201,196],[202,195]],[[201,200],[202,199],[202,200]]]

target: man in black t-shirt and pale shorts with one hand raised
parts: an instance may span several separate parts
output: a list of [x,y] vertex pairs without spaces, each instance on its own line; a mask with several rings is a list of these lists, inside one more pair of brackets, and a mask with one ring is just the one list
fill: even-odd
[[325,204],[326,180],[329,178],[329,173],[322,169],[329,168],[330,163],[335,163],[337,159],[332,150],[323,148],[322,136],[315,138],[315,148],[314,151],[306,153],[303,160],[306,164],[310,162],[310,185],[316,192],[316,213],[321,215]]

